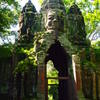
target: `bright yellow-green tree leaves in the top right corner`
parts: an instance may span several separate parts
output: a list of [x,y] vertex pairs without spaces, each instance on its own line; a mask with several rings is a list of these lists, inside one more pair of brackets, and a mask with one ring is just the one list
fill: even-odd
[[92,33],[100,23],[100,0],[81,0],[76,3],[84,16],[87,34]]

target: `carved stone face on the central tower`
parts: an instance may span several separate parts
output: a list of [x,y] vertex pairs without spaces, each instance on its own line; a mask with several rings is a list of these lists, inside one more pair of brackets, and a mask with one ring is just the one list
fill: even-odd
[[57,12],[54,11],[48,11],[47,13],[47,20],[45,28],[47,31],[49,30],[58,30],[59,29],[59,20],[58,20]]

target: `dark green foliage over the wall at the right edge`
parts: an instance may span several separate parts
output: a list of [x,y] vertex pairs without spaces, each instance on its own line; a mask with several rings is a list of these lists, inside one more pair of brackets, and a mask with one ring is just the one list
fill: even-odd
[[[81,60],[83,67],[92,71],[96,71],[99,69],[99,65],[100,65],[100,46],[99,45],[100,45],[100,41],[92,45],[92,48],[85,49],[86,58]],[[93,61],[91,59],[93,59]]]

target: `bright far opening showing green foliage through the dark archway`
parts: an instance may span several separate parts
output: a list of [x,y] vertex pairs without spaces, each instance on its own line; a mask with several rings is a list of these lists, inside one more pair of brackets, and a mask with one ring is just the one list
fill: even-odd
[[46,72],[48,100],[58,100],[58,71],[51,60],[47,62]]

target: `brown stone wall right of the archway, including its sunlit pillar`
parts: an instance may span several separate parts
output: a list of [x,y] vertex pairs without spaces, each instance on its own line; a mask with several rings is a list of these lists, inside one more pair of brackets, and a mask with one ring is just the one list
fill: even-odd
[[100,68],[96,64],[96,58],[93,50],[90,49],[90,61],[94,63],[94,67],[91,63],[84,62],[87,55],[85,49],[81,52],[79,57],[77,54],[72,56],[73,61],[73,73],[76,82],[77,92],[83,93],[79,95],[79,98],[87,98],[89,100],[100,99]]

